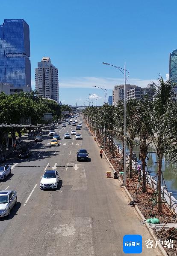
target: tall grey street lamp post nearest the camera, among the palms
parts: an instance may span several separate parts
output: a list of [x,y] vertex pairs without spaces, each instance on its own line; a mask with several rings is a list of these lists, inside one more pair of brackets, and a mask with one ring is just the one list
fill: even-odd
[[[112,64],[109,64],[109,63],[106,63],[106,62],[102,62],[103,64],[106,64],[106,65],[109,65],[109,66],[112,66],[112,67],[115,67],[117,68],[118,70],[120,70],[123,74],[124,74],[124,186],[126,187],[126,141],[125,141],[125,137],[126,137],[126,81],[127,81],[127,78],[129,77],[129,71],[126,70],[126,66],[125,66],[125,62],[124,62],[124,68],[121,68],[121,67],[117,67],[115,65],[112,65]],[[124,72],[122,71],[124,70]],[[128,73],[128,76],[126,77],[126,72]]]

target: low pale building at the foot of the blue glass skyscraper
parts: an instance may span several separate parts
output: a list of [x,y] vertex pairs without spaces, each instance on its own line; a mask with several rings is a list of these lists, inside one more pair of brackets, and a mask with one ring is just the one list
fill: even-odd
[[4,92],[7,95],[11,95],[14,93],[20,93],[20,92],[30,92],[31,87],[30,86],[21,86],[21,87],[14,87],[11,83],[4,83],[0,82],[0,93]]

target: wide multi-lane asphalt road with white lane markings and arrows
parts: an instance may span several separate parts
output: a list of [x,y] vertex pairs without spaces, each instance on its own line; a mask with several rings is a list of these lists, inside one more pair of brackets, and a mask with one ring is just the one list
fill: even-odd
[[[50,148],[45,131],[43,142],[27,143],[33,151],[29,158],[7,161],[12,174],[0,182],[0,190],[16,190],[18,204],[9,217],[0,219],[0,256],[121,256],[127,234],[142,235],[142,255],[161,255],[145,248],[145,240],[152,238],[118,180],[106,178],[111,169],[100,159],[86,125],[80,131],[83,140],[75,140],[75,135],[64,139],[76,127],[60,126],[59,147]],[[80,148],[89,152],[89,162],[77,162]],[[40,177],[52,168],[59,171],[59,186],[42,191]]]

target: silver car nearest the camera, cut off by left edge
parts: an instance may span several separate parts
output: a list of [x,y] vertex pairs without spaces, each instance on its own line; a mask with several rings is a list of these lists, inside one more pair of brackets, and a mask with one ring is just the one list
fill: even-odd
[[17,204],[17,192],[14,190],[0,191],[0,217],[10,215],[10,211]]

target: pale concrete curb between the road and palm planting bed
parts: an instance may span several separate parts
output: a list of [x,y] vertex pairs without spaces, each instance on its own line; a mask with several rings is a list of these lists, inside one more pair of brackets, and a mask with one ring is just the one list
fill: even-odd
[[[96,142],[97,142],[98,146],[100,146],[100,144],[98,143],[97,139],[96,139]],[[112,166],[111,162],[110,162],[109,159],[107,158],[106,153],[105,153],[104,151],[103,151],[103,154],[104,154],[106,160],[108,161],[109,165],[111,166],[112,171],[115,172],[114,167]],[[121,183],[121,186],[122,186],[122,185],[123,185],[123,182],[122,182],[122,180],[120,179],[120,177],[118,177],[118,180],[119,180],[119,182]],[[127,195],[128,195],[128,197],[130,198],[130,200],[133,201],[133,198],[132,198],[132,196],[130,195],[130,193],[128,192],[128,190],[126,189],[126,187],[125,187],[125,186],[122,186],[122,187],[124,188],[124,191],[127,193]],[[156,235],[154,234],[153,230],[150,228],[149,224],[148,224],[147,222],[145,222],[146,219],[145,219],[145,217],[143,216],[142,212],[139,210],[139,207],[138,207],[136,204],[135,204],[134,207],[135,207],[135,209],[136,209],[136,212],[139,214],[140,218],[142,219],[142,221],[145,223],[145,227],[148,229],[148,232],[149,232],[150,235],[152,236],[153,240],[154,240],[154,241],[157,241],[158,239],[156,238]],[[168,256],[168,254],[165,252],[165,250],[164,250],[164,248],[162,247],[161,244],[157,244],[157,246],[158,246],[158,248],[159,248],[159,250],[160,250],[160,252],[162,253],[163,256]]]

